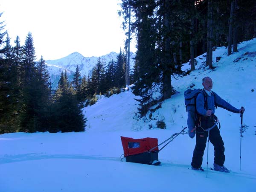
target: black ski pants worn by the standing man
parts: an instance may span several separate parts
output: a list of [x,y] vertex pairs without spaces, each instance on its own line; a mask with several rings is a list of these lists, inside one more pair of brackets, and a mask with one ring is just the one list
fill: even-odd
[[[207,124],[202,121],[202,124]],[[204,131],[202,128],[196,128],[196,144],[192,157],[191,165],[194,168],[199,168],[203,162],[204,149],[206,147],[208,137],[208,131]],[[209,133],[209,140],[214,146],[214,163],[219,166],[224,165],[225,155],[224,155],[224,142],[221,138],[220,131],[217,126],[212,128]]]

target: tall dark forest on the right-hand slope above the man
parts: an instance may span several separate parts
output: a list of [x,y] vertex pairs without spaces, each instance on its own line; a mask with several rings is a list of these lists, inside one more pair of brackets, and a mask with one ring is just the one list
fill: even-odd
[[[123,28],[131,18],[137,39],[133,92],[141,96],[141,116],[175,93],[171,76],[184,74],[183,63],[190,61],[192,71],[195,57],[207,52],[206,66],[213,69],[213,47],[226,46],[230,55],[239,42],[256,37],[255,0],[122,0],[120,5]],[[154,98],[156,88],[160,99]]]

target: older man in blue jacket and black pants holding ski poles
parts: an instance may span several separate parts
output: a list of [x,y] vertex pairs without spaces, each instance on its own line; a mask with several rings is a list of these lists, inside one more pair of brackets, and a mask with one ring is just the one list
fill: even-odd
[[229,172],[229,170],[224,166],[225,155],[224,155],[224,142],[221,138],[220,131],[215,124],[216,116],[215,105],[224,108],[233,113],[244,113],[245,109],[237,109],[230,105],[225,100],[221,99],[212,90],[212,79],[209,77],[204,77],[202,85],[204,90],[201,91],[196,98],[196,110],[198,113],[198,125],[195,130],[196,132],[196,144],[192,157],[192,169],[204,171],[201,168],[203,162],[204,149],[206,147],[208,129],[209,140],[214,146],[214,164],[213,168],[220,172]]

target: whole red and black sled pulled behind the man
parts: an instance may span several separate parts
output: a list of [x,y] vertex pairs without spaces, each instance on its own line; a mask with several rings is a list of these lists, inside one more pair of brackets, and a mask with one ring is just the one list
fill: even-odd
[[126,162],[159,165],[158,140],[156,138],[133,139],[122,137],[122,146]]

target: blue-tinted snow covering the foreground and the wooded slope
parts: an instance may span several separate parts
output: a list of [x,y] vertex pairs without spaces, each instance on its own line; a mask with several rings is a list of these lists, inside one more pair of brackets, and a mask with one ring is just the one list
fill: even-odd
[[[197,58],[196,70],[189,76],[172,78],[177,93],[161,103],[161,108],[138,119],[137,98],[130,88],[110,98],[101,96],[95,105],[84,108],[85,132],[12,133],[0,135],[0,192],[255,192],[256,191],[256,39],[239,44],[239,52],[221,56],[214,70],[203,67],[205,57]],[[183,69],[189,68],[188,63]],[[195,138],[179,135],[159,153],[160,166],[128,163],[120,136],[154,137],[162,143],[186,127],[183,93],[189,85],[201,88],[201,79],[210,76],[213,91],[236,108],[244,106],[247,125],[243,133],[240,162],[239,114],[217,108],[221,136],[225,143],[225,166],[231,173],[210,170],[214,150],[209,143],[206,172],[190,169]],[[163,119],[167,129],[156,128]],[[152,128],[149,129],[149,125]],[[202,167],[207,167],[207,148]]]

